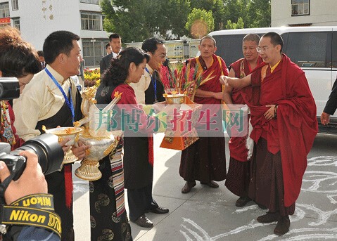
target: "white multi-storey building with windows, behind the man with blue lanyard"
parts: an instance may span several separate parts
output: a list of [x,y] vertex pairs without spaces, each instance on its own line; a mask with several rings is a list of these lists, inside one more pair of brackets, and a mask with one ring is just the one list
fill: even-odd
[[103,19],[99,0],[0,0],[0,25],[17,27],[37,50],[51,32],[78,34],[86,67],[99,66],[106,55]]

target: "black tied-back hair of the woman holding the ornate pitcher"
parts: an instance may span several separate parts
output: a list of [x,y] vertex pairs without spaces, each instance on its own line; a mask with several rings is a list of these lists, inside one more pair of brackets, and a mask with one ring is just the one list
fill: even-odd
[[129,66],[134,63],[136,66],[150,60],[150,56],[139,48],[129,47],[120,52],[117,59],[112,59],[110,67],[103,73],[101,84],[103,86],[118,86],[125,82],[129,75]]

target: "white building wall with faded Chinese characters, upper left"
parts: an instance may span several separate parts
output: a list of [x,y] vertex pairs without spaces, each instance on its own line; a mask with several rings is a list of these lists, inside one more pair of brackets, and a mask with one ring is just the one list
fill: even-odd
[[[18,0],[19,10],[12,11],[11,0],[0,0],[0,3],[6,1],[9,2],[11,18],[20,17],[23,39],[33,44],[37,50],[42,50],[44,39],[58,30],[68,30],[81,38],[108,39],[108,33],[103,30],[81,30],[80,11],[100,13],[99,5],[83,4],[80,0]],[[45,13],[42,8],[46,8]],[[49,18],[50,15],[53,15],[53,20]]]

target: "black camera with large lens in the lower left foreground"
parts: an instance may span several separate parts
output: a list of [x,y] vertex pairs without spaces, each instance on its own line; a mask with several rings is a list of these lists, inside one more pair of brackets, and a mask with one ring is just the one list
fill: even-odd
[[13,180],[18,180],[26,167],[26,158],[19,155],[22,150],[33,150],[37,154],[44,175],[58,171],[64,157],[58,136],[51,133],[44,133],[26,141],[20,148],[10,150],[11,145],[0,143],[0,160],[6,163],[11,173],[15,173]]

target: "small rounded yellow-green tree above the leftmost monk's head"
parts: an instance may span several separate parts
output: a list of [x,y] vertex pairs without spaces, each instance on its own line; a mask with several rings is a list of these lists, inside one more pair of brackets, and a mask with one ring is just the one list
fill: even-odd
[[187,19],[186,30],[193,39],[200,39],[214,30],[214,18],[212,11],[193,8]]

